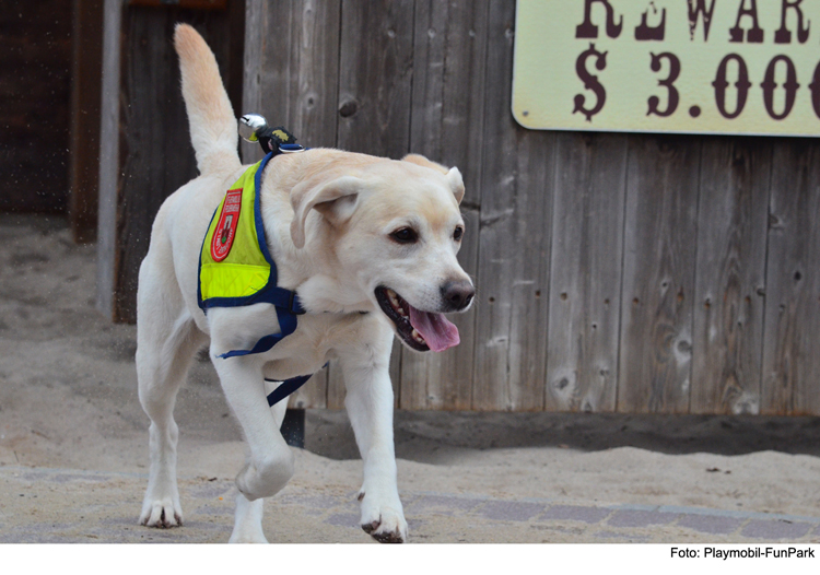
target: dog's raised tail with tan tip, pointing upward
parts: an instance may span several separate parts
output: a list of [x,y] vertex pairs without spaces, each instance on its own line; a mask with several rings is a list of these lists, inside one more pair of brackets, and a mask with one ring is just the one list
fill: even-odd
[[174,46],[179,55],[183,98],[199,172],[204,175],[239,168],[236,116],[213,52],[188,24],[177,24]]

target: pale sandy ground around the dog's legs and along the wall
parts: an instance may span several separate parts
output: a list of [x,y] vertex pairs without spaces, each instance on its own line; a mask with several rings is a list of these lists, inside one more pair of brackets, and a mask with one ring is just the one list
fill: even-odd
[[[13,541],[33,515],[92,539],[107,531],[90,529],[86,515],[132,526],[141,539],[176,537],[136,525],[148,462],[136,328],[95,312],[94,278],[95,247],[73,245],[65,221],[0,216],[0,540]],[[195,362],[176,416],[183,506],[197,518],[190,529],[224,541],[244,448],[207,361]],[[489,528],[469,517],[456,529],[453,516],[430,513],[413,530],[412,498],[430,493],[820,517],[820,418],[398,412],[396,445],[417,542],[584,540],[581,531]],[[356,513],[361,461],[345,414],[308,411],[305,447],[291,484],[267,504],[269,539],[368,541],[333,529],[336,515],[317,519],[328,505],[347,506],[339,517]],[[321,497],[329,503],[302,513]],[[301,507],[289,506],[296,501]],[[115,504],[125,511],[112,519],[105,508]],[[216,527],[196,531],[197,521]]]

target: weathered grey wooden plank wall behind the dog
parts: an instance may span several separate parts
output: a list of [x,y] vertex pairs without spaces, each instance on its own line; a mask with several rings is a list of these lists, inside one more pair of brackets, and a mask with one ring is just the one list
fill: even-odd
[[[245,13],[237,113],[306,145],[417,152],[465,176],[459,259],[477,301],[456,350],[394,348],[397,407],[820,414],[816,140],[525,130],[509,113],[515,0],[248,0]],[[147,37],[141,25],[122,28]],[[137,72],[169,85],[160,56],[168,70],[124,61],[126,87]],[[157,181],[152,206],[172,191],[143,185]],[[119,221],[136,231],[150,212]],[[331,365],[291,404],[343,397]]]

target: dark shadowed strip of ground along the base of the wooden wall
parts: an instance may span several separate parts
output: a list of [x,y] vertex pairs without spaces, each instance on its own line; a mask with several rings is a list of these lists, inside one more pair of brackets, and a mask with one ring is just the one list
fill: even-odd
[[[396,455],[430,463],[461,449],[513,447],[820,455],[820,418],[397,411],[395,427]],[[308,410],[305,447],[332,459],[359,457],[343,411]]]

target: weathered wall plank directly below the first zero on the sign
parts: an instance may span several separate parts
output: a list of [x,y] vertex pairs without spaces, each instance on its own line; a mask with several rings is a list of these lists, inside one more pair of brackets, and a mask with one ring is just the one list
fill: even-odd
[[772,140],[703,142],[692,413],[758,413]]

